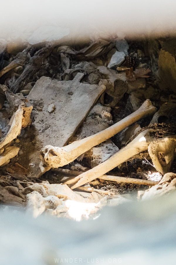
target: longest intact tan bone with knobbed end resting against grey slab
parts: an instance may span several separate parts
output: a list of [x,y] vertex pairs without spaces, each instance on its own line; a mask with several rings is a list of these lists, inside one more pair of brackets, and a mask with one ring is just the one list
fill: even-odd
[[156,107],[152,106],[151,101],[147,99],[138,110],[101,132],[75,141],[62,148],[46,145],[40,150],[40,158],[43,164],[50,168],[67,165],[93,146],[99,145],[141,118],[155,113],[156,110]]

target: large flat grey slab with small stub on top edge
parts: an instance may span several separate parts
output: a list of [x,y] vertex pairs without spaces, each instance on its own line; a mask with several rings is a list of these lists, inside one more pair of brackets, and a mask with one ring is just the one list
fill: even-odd
[[25,139],[20,136],[19,155],[21,164],[29,171],[28,177],[42,175],[40,149],[45,145],[66,145],[104,92],[104,86],[80,83],[83,76],[78,73],[69,81],[41,77],[29,93],[33,122]]

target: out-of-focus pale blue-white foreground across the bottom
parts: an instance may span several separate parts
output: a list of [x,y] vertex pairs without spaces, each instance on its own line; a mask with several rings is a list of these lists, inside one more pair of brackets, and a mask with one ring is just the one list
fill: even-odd
[[175,264],[176,194],[105,207],[92,221],[0,212],[1,264]]

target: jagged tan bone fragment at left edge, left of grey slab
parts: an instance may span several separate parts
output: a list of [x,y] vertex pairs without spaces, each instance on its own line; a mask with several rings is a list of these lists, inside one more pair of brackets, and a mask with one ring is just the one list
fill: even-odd
[[6,144],[11,143],[11,141],[20,134],[22,127],[26,127],[31,123],[30,115],[32,108],[32,106],[18,108],[14,116],[11,118],[12,123],[9,132],[7,133],[6,137],[0,142],[0,150]]

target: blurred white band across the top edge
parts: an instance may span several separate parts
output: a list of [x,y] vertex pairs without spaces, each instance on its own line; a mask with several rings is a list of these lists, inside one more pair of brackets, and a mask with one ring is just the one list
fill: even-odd
[[7,0],[1,3],[0,39],[31,37],[40,27],[60,27],[70,38],[175,35],[176,1]]

